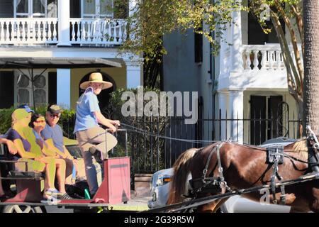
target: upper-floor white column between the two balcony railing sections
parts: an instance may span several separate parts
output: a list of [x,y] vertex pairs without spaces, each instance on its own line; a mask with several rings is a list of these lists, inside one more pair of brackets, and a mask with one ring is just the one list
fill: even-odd
[[71,45],[69,43],[69,0],[58,0],[57,17],[59,28],[59,43],[57,43],[57,45]]

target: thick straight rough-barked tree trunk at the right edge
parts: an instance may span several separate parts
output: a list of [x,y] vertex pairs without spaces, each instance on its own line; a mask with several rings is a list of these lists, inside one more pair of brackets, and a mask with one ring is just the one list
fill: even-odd
[[319,4],[318,0],[303,0],[304,21],[304,80],[303,134],[306,126],[315,133],[319,129]]

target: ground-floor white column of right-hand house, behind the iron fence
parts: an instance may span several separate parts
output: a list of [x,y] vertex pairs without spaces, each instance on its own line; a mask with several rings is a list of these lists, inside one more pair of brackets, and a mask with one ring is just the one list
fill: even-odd
[[[238,143],[243,143],[244,141],[244,123],[242,121],[244,116],[244,92],[243,91],[231,91],[230,92],[230,102],[229,109],[231,111],[231,121],[232,124],[232,140],[237,140]],[[240,119],[240,121],[237,121]]]

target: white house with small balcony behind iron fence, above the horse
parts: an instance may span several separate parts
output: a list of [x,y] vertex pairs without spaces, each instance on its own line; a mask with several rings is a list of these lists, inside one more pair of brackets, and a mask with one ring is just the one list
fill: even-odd
[[297,123],[289,121],[297,119],[296,102],[288,92],[274,29],[263,33],[247,12],[233,12],[232,18],[235,24],[223,36],[232,45],[220,43],[218,56],[211,55],[206,38],[198,40],[191,31],[164,38],[164,89],[199,92],[201,118],[215,119],[201,121],[202,139],[259,144],[278,135],[296,136]]

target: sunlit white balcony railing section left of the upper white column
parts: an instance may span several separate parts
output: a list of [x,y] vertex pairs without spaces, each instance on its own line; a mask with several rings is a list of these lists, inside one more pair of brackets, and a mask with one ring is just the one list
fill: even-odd
[[57,43],[57,18],[0,18],[0,44]]

